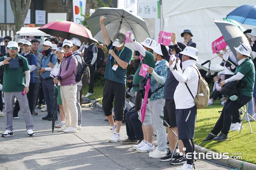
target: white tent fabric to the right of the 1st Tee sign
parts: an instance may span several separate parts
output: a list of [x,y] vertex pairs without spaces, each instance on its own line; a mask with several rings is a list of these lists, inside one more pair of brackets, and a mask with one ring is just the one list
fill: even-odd
[[[222,20],[229,12],[241,5],[256,5],[255,0],[162,0],[163,10],[163,31],[175,32],[176,41],[183,42],[181,33],[184,29],[190,29],[199,51],[199,61],[196,66],[208,70],[208,64],[201,66],[201,63],[212,59],[211,43],[222,36],[213,19]],[[242,24],[241,24],[242,25]],[[255,26],[242,25],[245,29],[252,29]],[[222,71],[219,64],[222,59],[217,57],[211,60],[211,72]]]

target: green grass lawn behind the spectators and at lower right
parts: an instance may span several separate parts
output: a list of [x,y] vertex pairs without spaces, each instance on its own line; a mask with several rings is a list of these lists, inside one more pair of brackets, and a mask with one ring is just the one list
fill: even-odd
[[[83,87],[83,94],[86,95],[89,87]],[[98,99],[102,97],[103,86],[99,83],[95,83],[94,86],[95,94],[89,96],[91,99]],[[102,104],[102,100],[99,102]],[[242,153],[242,161],[247,161],[251,163],[256,163],[256,122],[251,121],[252,131],[249,129],[248,121],[244,122],[244,129],[241,133],[239,131],[229,131],[229,139],[222,142],[210,141],[202,142],[204,138],[211,132],[215,123],[217,122],[223,105],[221,105],[219,99],[214,101],[213,105],[208,106],[204,109],[197,110],[197,120],[196,120],[196,131],[194,143],[207,149],[213,150],[218,153]]]

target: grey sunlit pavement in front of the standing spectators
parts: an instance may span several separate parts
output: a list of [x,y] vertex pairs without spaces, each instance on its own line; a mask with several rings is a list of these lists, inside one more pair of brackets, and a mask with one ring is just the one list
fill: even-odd
[[[176,170],[181,165],[170,165],[159,159],[138,153],[132,145],[109,143],[110,125],[102,112],[82,108],[82,130],[66,134],[54,130],[52,122],[42,120],[47,112],[35,110],[34,137],[28,137],[22,113],[13,120],[14,136],[0,137],[0,170]],[[56,124],[60,123],[59,120]],[[0,133],[5,131],[4,117],[0,117]],[[121,139],[126,139],[125,125]],[[156,143],[156,138],[153,138]],[[230,170],[232,168],[206,160],[195,162],[196,170]]]

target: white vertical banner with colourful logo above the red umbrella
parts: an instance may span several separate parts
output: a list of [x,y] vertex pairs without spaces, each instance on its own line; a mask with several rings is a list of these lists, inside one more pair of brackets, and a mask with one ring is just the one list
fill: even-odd
[[73,21],[82,25],[85,14],[86,0],[73,0]]

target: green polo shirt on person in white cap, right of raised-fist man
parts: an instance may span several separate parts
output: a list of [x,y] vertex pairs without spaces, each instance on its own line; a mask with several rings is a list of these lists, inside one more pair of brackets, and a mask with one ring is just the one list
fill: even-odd
[[[143,63],[147,64],[149,67],[154,68],[155,67],[155,60],[154,60],[154,55],[153,55],[153,51],[148,52],[146,51],[146,56],[142,56],[143,57]],[[136,73],[133,76],[133,84],[140,84],[140,80],[143,79],[143,76],[139,75],[140,72],[140,67],[137,69]],[[133,87],[132,91],[138,91],[140,90],[139,87]]]

